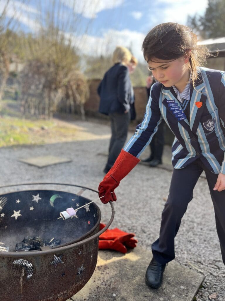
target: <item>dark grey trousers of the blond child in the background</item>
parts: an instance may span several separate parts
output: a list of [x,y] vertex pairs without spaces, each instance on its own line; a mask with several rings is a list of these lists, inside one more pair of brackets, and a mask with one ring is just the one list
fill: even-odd
[[131,120],[131,113],[110,113],[112,136],[109,146],[109,157],[105,169],[110,170],[119,156],[127,139],[128,127]]

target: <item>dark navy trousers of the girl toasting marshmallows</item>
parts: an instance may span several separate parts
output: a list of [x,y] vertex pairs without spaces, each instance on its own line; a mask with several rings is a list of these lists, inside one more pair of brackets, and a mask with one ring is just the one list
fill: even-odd
[[153,256],[161,264],[166,264],[175,258],[174,238],[187,205],[192,200],[193,188],[203,170],[214,206],[216,229],[225,264],[225,190],[220,192],[213,190],[218,175],[206,169],[200,159],[182,169],[173,170],[170,193],[162,213],[160,236],[152,244]]

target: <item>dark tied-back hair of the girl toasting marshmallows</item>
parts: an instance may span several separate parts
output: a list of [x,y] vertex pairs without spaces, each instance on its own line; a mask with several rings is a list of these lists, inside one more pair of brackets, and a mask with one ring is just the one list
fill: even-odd
[[198,78],[197,67],[203,66],[211,54],[203,45],[197,45],[197,36],[188,26],[178,23],[162,23],[149,31],[142,44],[146,61],[176,60],[190,55],[190,76],[194,82]]

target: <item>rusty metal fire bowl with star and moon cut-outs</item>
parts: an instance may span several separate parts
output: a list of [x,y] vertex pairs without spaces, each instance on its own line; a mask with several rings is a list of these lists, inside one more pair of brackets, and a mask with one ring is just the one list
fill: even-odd
[[[4,301],[64,301],[76,294],[91,278],[98,257],[98,240],[111,224],[112,214],[99,231],[101,211],[95,203],[77,211],[77,218],[57,219],[69,207],[82,206],[91,200],[82,197],[90,188],[77,194],[56,190],[25,190],[0,195],[0,296]],[[8,185],[10,187],[16,185]],[[17,188],[18,189],[18,188]],[[16,252],[15,245],[24,237],[41,236],[60,239],[55,247]]]

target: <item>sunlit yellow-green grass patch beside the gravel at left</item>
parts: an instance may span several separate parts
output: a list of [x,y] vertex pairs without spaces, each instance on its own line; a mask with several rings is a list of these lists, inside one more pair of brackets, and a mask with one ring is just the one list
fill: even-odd
[[24,118],[15,101],[2,101],[0,109],[0,147],[22,144],[50,144],[109,138],[58,119]]

